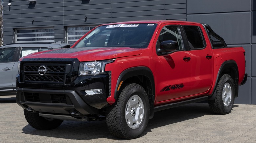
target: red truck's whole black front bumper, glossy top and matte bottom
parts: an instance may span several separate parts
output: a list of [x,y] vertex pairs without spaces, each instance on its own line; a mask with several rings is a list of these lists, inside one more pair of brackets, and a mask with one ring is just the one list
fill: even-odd
[[[70,84],[43,84],[21,82],[16,76],[17,103],[24,109],[31,108],[39,113],[71,115],[100,114],[109,106],[109,74],[79,76]],[[85,90],[102,89],[103,93],[88,95]]]

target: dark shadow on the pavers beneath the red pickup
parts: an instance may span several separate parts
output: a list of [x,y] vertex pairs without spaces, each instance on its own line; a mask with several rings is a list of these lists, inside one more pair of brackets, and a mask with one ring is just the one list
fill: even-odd
[[[151,129],[189,119],[195,119],[204,115],[213,115],[208,103],[192,103],[155,112],[154,118],[149,119],[148,126],[142,136],[151,132]],[[74,140],[90,140],[98,138],[121,140],[110,134],[105,121],[64,121],[57,129],[47,131],[37,130],[30,125],[27,125],[23,128],[22,133]]]

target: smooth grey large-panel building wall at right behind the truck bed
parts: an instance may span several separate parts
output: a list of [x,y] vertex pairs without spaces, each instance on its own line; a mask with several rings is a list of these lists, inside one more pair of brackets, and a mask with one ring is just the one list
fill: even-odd
[[187,1],[187,21],[206,23],[228,46],[244,47],[248,79],[239,87],[235,100],[239,104],[256,104],[256,3],[252,3],[253,0]]

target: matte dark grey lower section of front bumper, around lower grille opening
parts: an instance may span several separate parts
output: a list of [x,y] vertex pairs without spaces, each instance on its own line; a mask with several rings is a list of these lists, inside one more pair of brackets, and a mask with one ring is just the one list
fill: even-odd
[[[37,93],[40,93],[39,98],[41,102],[27,101],[28,97],[26,94],[33,95]],[[53,94],[64,95],[65,97],[63,96],[62,99],[66,99],[66,103],[49,103]],[[75,91],[72,90],[18,88],[16,100],[17,103],[24,109],[30,107],[33,110],[42,113],[71,114],[75,111],[78,111],[84,115],[98,113],[98,109],[89,106]]]

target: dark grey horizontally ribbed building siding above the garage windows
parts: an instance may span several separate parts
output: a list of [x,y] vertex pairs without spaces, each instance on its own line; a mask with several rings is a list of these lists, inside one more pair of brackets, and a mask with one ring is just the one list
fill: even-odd
[[12,41],[16,28],[54,27],[55,41],[63,41],[65,26],[150,19],[186,20],[186,0],[38,0],[36,4],[12,0],[10,7],[8,3],[4,2],[5,44]]

